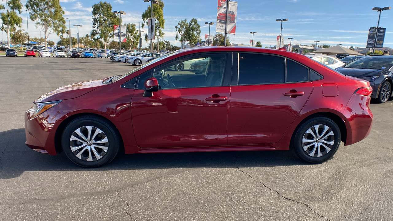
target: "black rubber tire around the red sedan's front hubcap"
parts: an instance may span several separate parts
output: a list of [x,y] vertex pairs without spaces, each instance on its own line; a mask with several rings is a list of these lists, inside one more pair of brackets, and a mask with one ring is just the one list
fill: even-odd
[[[102,138],[105,138],[104,135],[106,136],[108,142],[107,142],[107,152],[104,153],[103,149],[97,148],[97,147],[92,147],[89,146],[90,149],[86,149],[83,151],[82,148],[88,147],[86,144],[83,144],[79,142],[81,145],[80,149],[75,149],[75,151],[72,152],[71,150],[71,145],[75,144],[77,141],[70,141],[70,138],[72,134],[79,128],[83,128],[85,126],[92,126],[95,128],[100,129],[103,132]],[[85,128],[86,129],[86,128]],[[91,134],[94,134],[93,132],[94,129],[91,130]],[[83,132],[83,129],[81,129]],[[101,133],[100,133],[101,134]],[[101,136],[100,134],[97,134],[96,136]],[[79,135],[78,135],[79,136]],[[85,135],[86,136],[86,135]],[[93,137],[94,135],[90,136]],[[84,147],[83,147],[84,145]],[[121,137],[116,130],[114,126],[112,126],[110,123],[107,122],[107,120],[103,120],[100,117],[97,116],[81,116],[78,118],[75,118],[72,120],[68,125],[64,128],[64,131],[62,132],[61,136],[61,146],[63,148],[64,153],[66,156],[75,164],[81,167],[87,167],[87,168],[93,168],[93,167],[99,167],[103,166],[105,164],[108,164],[111,162],[116,155],[119,152],[120,146],[121,146]],[[103,146],[104,147],[104,146]],[[94,154],[93,151],[91,151],[91,158],[94,161],[86,161],[88,160],[88,153],[90,152],[89,150],[93,149],[96,151],[96,153],[101,154],[100,156],[102,158],[97,159],[97,155]],[[82,151],[82,153],[80,153]],[[81,158],[78,158],[76,155],[80,154]],[[94,155],[94,156],[93,156]],[[95,157],[95,158],[94,158]]]

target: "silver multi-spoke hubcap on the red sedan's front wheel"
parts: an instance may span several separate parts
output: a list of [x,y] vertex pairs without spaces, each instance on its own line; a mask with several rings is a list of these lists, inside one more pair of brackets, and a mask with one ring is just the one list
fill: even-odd
[[108,144],[105,133],[93,126],[79,127],[70,138],[70,148],[75,157],[89,162],[104,157]]

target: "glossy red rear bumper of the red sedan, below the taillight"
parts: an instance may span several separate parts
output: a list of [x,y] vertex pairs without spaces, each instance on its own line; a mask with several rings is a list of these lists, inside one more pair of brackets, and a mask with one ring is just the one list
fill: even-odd
[[366,138],[373,124],[373,113],[369,108],[371,98],[353,94],[345,107],[343,115],[347,118],[347,139],[345,145],[351,145]]

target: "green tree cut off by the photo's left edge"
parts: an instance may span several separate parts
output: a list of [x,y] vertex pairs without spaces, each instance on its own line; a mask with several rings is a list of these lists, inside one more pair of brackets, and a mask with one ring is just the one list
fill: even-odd
[[0,10],[6,10],[0,14],[2,20],[1,30],[6,31],[8,47],[10,47],[10,34],[16,30],[16,27],[20,27],[22,24],[22,18],[18,16],[21,13],[23,5],[20,0],[6,0],[6,6],[0,4]]

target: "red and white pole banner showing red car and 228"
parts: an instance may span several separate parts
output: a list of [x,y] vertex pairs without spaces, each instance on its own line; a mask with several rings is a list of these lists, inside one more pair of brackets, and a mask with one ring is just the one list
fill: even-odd
[[[229,2],[229,7],[228,7],[228,19],[227,19],[226,5],[228,2]],[[216,32],[225,33],[225,26],[228,26],[226,29],[227,33],[231,35],[235,35],[236,17],[237,17],[237,2],[218,0]]]

